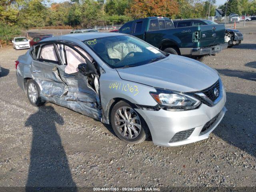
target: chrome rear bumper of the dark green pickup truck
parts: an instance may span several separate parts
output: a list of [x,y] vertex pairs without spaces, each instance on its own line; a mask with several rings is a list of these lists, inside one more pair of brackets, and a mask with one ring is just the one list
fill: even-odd
[[226,43],[210,46],[210,47],[192,48],[191,55],[192,56],[212,55],[212,54],[219,53],[226,48],[228,48],[228,44]]

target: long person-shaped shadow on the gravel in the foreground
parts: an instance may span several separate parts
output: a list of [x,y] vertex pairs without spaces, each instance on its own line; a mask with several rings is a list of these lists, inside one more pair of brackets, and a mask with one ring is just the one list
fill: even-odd
[[63,125],[64,120],[52,106],[38,108],[26,120],[25,126],[32,127],[26,192],[64,191],[67,188],[76,191],[56,124]]

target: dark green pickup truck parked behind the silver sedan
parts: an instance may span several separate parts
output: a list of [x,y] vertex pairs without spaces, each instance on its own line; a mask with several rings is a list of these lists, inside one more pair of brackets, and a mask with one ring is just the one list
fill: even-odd
[[148,17],[125,23],[120,33],[131,34],[171,54],[202,59],[227,48],[224,25],[175,28],[172,20]]

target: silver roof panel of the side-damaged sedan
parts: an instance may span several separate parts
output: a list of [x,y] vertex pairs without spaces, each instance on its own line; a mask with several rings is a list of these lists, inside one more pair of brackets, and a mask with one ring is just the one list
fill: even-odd
[[67,34],[62,36],[49,37],[42,40],[41,42],[54,41],[54,40],[72,40],[72,39],[84,41],[84,40],[97,39],[97,38],[110,37],[110,36],[119,36],[119,35],[127,35],[127,34],[111,33],[111,32],[76,33],[76,34]]

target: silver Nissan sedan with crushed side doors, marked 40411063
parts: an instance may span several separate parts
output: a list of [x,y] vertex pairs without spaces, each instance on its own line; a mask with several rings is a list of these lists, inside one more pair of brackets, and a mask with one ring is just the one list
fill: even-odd
[[132,144],[150,135],[160,146],[206,139],[226,112],[216,70],[126,34],[47,38],[15,65],[32,105],[70,108],[110,124]]

